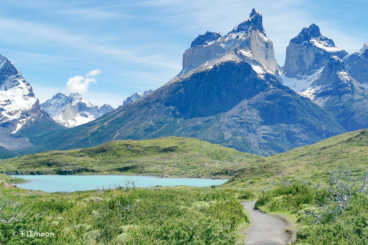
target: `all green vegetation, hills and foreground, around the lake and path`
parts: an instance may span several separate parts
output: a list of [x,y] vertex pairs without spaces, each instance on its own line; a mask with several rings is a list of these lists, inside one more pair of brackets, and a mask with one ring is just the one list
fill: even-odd
[[[0,187],[2,201],[17,200],[21,194],[16,201],[21,205],[18,216],[31,208],[20,221],[0,222],[4,244],[235,244],[249,223],[240,202],[252,199],[257,199],[255,208],[292,223],[289,228],[297,231],[294,245],[368,244],[368,130],[269,157],[192,138],[167,137],[24,155],[2,160],[0,168],[3,173],[33,174],[214,178],[235,174],[215,189],[134,190],[113,185],[48,194]],[[19,180],[0,175],[0,181]],[[9,220],[12,210],[4,208],[0,219]],[[19,230],[57,235],[9,235]]]

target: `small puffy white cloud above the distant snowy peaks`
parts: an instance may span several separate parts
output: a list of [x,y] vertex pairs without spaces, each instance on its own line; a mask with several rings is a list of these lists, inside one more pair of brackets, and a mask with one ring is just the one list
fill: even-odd
[[88,74],[84,76],[73,76],[69,78],[67,82],[66,90],[69,93],[80,93],[85,94],[88,92],[88,87],[91,83],[96,83],[95,77],[101,73],[100,70],[93,70],[88,72]]

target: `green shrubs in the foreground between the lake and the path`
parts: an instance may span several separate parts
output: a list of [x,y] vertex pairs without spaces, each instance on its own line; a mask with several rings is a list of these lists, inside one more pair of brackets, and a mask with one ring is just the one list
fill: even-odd
[[[0,240],[7,245],[36,244],[208,244],[230,245],[249,222],[231,192],[210,188],[109,189],[49,194],[0,187]],[[20,195],[20,199],[18,197]],[[18,210],[19,208],[19,210]],[[13,236],[17,231],[18,236]],[[27,237],[21,231],[53,233]]]

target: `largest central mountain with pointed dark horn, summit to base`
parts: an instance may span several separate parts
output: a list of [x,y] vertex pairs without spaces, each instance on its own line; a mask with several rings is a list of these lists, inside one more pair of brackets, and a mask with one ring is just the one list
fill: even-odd
[[186,136],[269,155],[344,132],[328,112],[276,78],[273,45],[259,19],[253,10],[248,24],[191,47],[198,55],[195,63],[189,58],[193,66],[164,86],[93,122],[40,138],[38,148]]

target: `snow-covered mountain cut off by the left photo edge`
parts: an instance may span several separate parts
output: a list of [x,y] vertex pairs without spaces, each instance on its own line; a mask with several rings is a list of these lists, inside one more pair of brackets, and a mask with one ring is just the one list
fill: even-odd
[[40,108],[31,85],[14,64],[0,55],[0,146],[29,147],[33,145],[29,138],[63,128]]

